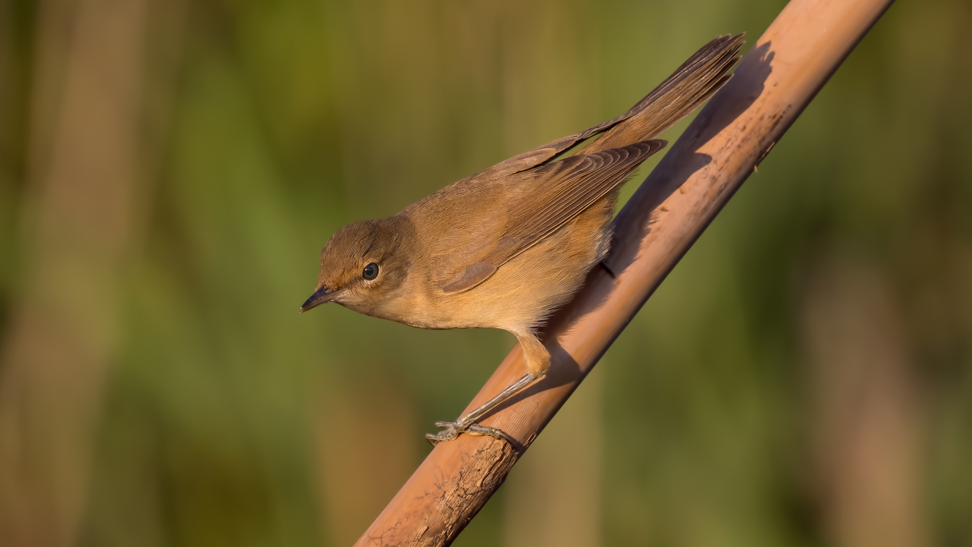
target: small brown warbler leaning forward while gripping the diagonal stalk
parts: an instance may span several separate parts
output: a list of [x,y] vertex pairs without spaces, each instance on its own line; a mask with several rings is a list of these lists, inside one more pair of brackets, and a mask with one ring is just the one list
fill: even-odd
[[509,331],[528,373],[426,435],[433,443],[460,433],[504,437],[475,420],[546,373],[550,354],[538,327],[608,253],[620,185],[665,147],[655,135],[729,80],[742,45],[742,34],[720,36],[621,117],[493,165],[391,218],[341,228],[321,252],[317,291],[300,311],[336,302],[425,329]]

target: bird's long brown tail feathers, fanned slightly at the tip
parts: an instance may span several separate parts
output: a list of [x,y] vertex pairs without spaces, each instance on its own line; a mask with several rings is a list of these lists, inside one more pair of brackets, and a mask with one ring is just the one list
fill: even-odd
[[728,72],[740,59],[743,36],[726,34],[703,46],[631,110],[603,124],[602,127],[613,127],[580,153],[590,154],[648,140],[676,125],[732,78]]

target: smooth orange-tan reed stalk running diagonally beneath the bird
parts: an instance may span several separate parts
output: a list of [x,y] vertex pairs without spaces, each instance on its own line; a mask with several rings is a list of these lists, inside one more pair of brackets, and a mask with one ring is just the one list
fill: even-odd
[[[456,538],[891,1],[787,4],[618,214],[608,268],[595,268],[545,329],[550,372],[480,420],[517,446],[469,435],[440,443],[357,546],[431,547]],[[516,346],[466,412],[524,372]]]

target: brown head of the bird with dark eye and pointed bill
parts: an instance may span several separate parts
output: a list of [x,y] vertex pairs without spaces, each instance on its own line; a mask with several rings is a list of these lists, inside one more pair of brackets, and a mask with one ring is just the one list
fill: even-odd
[[353,222],[321,251],[317,290],[300,311],[335,302],[366,314],[389,298],[408,276],[407,219]]

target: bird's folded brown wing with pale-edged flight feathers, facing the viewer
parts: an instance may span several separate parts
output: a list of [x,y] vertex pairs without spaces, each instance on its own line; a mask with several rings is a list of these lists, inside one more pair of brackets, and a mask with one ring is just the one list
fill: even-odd
[[[604,198],[665,144],[649,140],[572,156],[469,192],[455,227],[430,249],[435,286],[455,293],[483,282],[506,261]],[[473,228],[476,221],[483,226]]]

